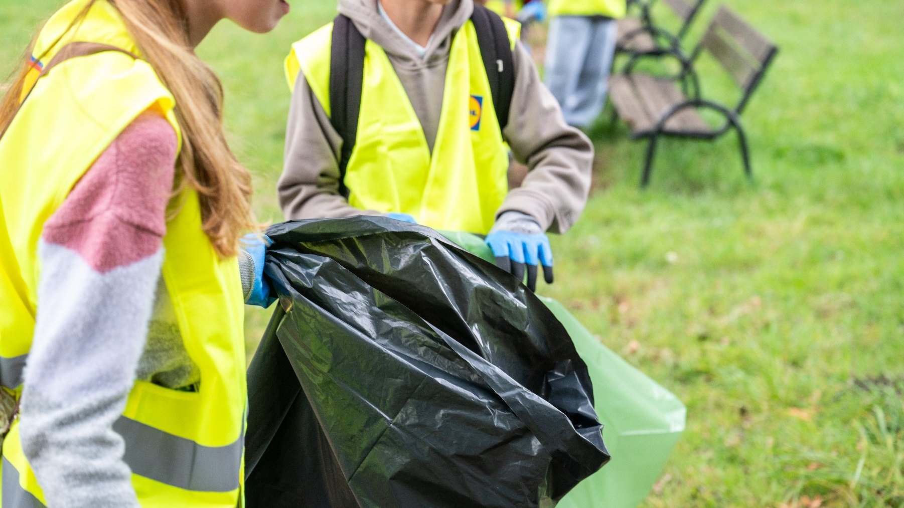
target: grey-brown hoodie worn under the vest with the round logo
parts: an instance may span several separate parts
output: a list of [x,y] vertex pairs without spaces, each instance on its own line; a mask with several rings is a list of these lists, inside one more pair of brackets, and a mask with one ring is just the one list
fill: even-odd
[[[452,0],[443,8],[426,54],[384,20],[376,0],[339,0],[364,37],[381,45],[408,92],[430,149],[436,142],[452,38],[474,11],[473,0]],[[530,172],[496,213],[531,215],[543,230],[568,230],[584,209],[590,188],[593,146],[569,127],[530,54],[518,42],[514,52],[515,88],[508,127],[503,135],[516,160]],[[342,137],[330,124],[307,81],[299,76],[289,112],[285,169],[278,183],[286,218],[311,219],[378,214],[353,208],[339,194]]]

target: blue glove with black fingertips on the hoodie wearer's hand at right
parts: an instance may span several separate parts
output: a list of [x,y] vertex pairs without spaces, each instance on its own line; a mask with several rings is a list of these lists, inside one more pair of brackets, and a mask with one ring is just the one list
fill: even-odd
[[537,289],[538,265],[543,267],[543,278],[552,284],[552,249],[550,239],[533,217],[522,212],[504,212],[496,220],[493,230],[486,235],[486,244],[493,249],[496,265],[509,271],[515,278],[524,278],[527,268],[527,287]]

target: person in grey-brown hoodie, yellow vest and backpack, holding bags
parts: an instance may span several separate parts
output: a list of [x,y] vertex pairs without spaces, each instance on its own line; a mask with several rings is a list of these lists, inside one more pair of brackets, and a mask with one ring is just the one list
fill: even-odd
[[[529,286],[539,265],[551,281],[546,232],[583,210],[593,147],[565,123],[517,24],[474,0],[339,0],[339,13],[287,59],[287,219],[388,214],[485,234]],[[517,189],[506,143],[531,169]]]

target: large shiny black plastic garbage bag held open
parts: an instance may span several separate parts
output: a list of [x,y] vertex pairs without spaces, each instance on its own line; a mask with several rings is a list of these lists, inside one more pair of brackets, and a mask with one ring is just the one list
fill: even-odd
[[513,277],[385,218],[268,236],[250,507],[552,506],[607,462],[587,366]]

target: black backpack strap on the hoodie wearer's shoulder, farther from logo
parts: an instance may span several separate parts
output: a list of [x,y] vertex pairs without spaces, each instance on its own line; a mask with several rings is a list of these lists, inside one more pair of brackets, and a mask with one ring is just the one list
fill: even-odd
[[336,16],[330,54],[330,123],[343,139],[339,160],[339,193],[345,197],[349,194],[345,186],[345,172],[357,141],[358,117],[361,114],[365,42],[352,20],[343,14]]

